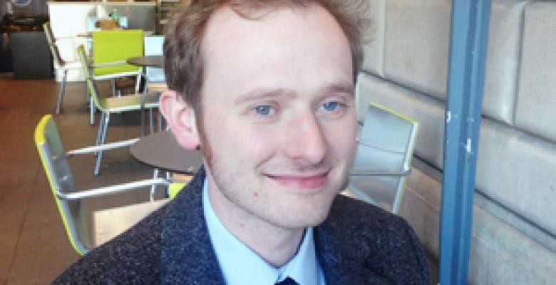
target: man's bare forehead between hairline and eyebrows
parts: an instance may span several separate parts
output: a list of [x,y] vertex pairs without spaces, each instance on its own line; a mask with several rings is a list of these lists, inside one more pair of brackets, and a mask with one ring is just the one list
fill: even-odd
[[295,88],[280,85],[309,82],[309,76],[321,81],[345,76],[351,81],[348,40],[326,9],[310,4],[254,15],[256,19],[247,19],[223,6],[211,16],[201,46],[203,89],[211,84],[240,88],[266,83]]

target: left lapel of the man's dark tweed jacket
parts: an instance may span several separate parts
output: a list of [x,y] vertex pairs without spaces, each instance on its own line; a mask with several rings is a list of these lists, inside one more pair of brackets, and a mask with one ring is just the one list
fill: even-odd
[[163,221],[163,284],[224,284],[202,209],[201,169],[168,204]]

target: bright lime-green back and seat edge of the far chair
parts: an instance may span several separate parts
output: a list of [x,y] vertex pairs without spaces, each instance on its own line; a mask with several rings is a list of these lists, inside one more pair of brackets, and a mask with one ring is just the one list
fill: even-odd
[[[93,31],[93,60],[95,65],[125,61],[143,56],[143,30]],[[96,76],[140,71],[140,67],[124,63],[95,68]]]

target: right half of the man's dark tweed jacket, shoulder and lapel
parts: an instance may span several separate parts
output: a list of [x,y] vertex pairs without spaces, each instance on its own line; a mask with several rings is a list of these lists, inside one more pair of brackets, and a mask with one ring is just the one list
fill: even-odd
[[429,283],[421,244],[403,217],[339,195],[316,232],[319,248],[325,249],[319,253],[321,263],[331,265],[325,272],[339,266],[340,272],[357,274],[365,284]]

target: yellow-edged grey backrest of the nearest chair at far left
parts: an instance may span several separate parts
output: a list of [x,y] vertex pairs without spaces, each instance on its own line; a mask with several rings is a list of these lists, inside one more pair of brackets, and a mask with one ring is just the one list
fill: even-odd
[[81,201],[60,199],[57,195],[57,192],[75,192],[76,188],[52,115],[45,115],[36,126],[35,144],[68,239],[76,252],[85,254],[92,244],[88,228],[90,225]]

